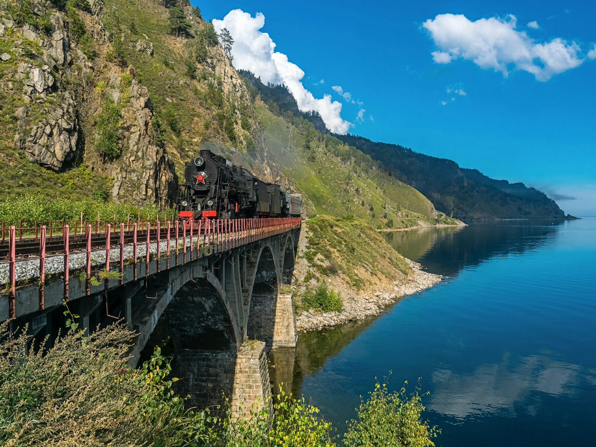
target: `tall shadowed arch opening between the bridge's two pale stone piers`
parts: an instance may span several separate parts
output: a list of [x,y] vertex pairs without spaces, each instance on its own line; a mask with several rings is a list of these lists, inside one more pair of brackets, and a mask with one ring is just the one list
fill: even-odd
[[274,336],[275,311],[280,281],[279,259],[275,249],[263,246],[254,269],[252,294],[249,302],[246,335],[271,347]]

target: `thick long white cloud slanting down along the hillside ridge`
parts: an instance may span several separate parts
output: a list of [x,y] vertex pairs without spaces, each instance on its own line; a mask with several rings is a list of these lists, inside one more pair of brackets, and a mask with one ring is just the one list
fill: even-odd
[[[237,69],[249,70],[265,83],[284,84],[300,110],[317,111],[330,131],[345,134],[352,123],[340,116],[342,103],[331,100],[331,95],[315,98],[302,85],[304,72],[300,67],[288,61],[285,54],[274,51],[275,42],[268,33],[259,31],[264,25],[265,15],[257,13],[252,17],[242,10],[230,11],[223,20],[213,20],[218,33],[227,28],[234,39],[232,56]],[[324,83],[323,79],[321,83]]]

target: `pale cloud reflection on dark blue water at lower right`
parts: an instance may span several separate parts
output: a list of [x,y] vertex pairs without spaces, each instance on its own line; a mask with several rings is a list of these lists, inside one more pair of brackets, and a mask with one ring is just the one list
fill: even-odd
[[[433,373],[434,392],[428,408],[459,419],[497,412],[514,416],[514,404],[527,401],[532,392],[575,394],[581,370],[579,365],[546,355],[512,361],[510,353],[504,353],[499,364],[480,365],[473,374],[439,369]],[[524,408],[531,414],[535,406]]]

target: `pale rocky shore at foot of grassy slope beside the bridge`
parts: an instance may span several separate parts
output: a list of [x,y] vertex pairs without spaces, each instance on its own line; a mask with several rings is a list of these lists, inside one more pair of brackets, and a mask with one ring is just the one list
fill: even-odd
[[412,272],[408,277],[395,281],[384,291],[374,294],[342,294],[342,312],[316,312],[312,309],[296,315],[296,327],[299,331],[317,330],[328,326],[343,324],[348,321],[364,319],[369,315],[378,315],[383,308],[395,303],[403,296],[416,293],[440,283],[442,276],[423,271],[422,266],[408,259]]

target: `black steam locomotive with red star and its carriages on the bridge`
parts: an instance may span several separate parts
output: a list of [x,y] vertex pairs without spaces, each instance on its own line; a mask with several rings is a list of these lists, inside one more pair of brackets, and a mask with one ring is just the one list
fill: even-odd
[[182,219],[299,217],[300,195],[284,193],[208,149],[186,163],[178,212]]

